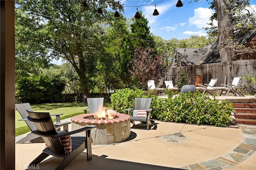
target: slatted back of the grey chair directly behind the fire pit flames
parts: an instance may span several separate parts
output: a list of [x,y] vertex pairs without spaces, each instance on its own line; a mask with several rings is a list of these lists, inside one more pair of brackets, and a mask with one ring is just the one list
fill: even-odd
[[104,97],[87,98],[89,113],[102,113]]

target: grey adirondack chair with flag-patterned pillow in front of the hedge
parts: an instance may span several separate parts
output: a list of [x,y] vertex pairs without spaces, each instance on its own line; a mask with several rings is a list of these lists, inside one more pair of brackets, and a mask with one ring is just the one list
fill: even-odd
[[131,116],[130,122],[136,125],[134,121],[140,121],[141,123],[146,123],[147,130],[149,130],[154,124],[153,120],[150,120],[150,104],[152,98],[135,98],[134,108],[124,109],[126,114],[129,115],[130,111],[133,111],[133,116]]

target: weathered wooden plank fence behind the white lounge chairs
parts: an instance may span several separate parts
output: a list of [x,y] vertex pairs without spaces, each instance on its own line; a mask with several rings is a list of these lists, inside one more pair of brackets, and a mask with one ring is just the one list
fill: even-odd
[[[231,85],[234,77],[242,77],[247,75],[248,70],[253,77],[256,77],[256,59],[237,60],[230,62],[210,63],[202,65],[183,66],[188,78],[188,84],[196,84],[196,75],[201,76],[201,82],[208,84],[211,79],[218,78],[217,86],[221,84]],[[172,80],[174,85],[178,85],[180,70],[182,67],[171,67],[164,78],[161,79],[159,85],[165,87],[165,80]],[[225,82],[226,77],[226,82]],[[242,80],[241,85],[246,85],[246,80]],[[254,86],[255,87],[255,86]]]

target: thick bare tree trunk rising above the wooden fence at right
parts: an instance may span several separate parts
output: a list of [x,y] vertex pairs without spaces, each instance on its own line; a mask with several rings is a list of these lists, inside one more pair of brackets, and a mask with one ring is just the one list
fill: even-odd
[[234,29],[230,14],[229,0],[213,0],[218,18],[218,42],[220,47],[220,60],[232,61],[235,58],[231,52]]

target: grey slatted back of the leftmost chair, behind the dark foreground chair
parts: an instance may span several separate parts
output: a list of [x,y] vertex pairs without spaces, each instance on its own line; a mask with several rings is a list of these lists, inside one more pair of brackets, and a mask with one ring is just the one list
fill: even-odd
[[[16,107],[16,110],[20,113],[22,119],[27,119],[27,117],[28,117],[27,110],[28,111],[33,111],[29,103],[16,104],[15,107]],[[28,120],[26,120],[25,122],[26,122],[26,124],[28,125],[28,127],[30,128],[31,131],[37,130],[34,123],[32,123]]]

